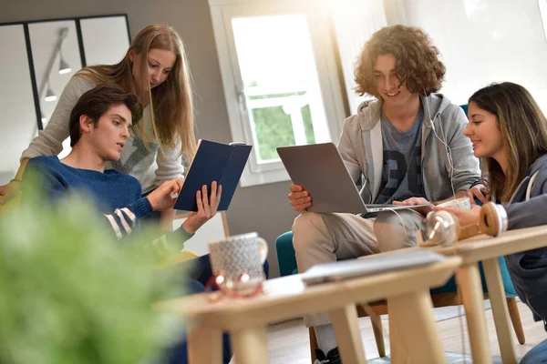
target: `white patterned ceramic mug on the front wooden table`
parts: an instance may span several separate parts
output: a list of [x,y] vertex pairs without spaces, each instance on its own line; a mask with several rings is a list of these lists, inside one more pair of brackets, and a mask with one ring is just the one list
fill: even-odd
[[222,276],[217,284],[225,284],[223,288],[230,291],[248,293],[249,289],[260,286],[265,278],[263,264],[267,256],[268,244],[257,233],[209,242],[212,273]]

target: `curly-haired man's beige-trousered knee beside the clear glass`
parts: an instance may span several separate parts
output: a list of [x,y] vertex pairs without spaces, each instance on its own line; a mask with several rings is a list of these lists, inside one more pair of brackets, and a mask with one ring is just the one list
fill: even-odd
[[374,223],[374,233],[381,252],[416,246],[414,217],[385,211],[378,214]]

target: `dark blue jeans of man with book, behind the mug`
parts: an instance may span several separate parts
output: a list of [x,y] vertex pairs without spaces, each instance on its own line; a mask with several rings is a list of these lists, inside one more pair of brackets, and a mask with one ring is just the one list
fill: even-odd
[[[188,280],[184,281],[184,288],[189,294],[201,293],[205,291],[207,281],[212,277],[211,259],[209,254],[188,260],[182,263],[185,265],[188,274]],[[269,276],[270,265],[268,260],[264,262],[264,274]],[[228,364],[232,359],[232,349],[230,347],[230,337],[228,334],[222,334],[222,363]],[[188,364],[188,346],[186,338],[181,339],[166,352],[166,364]]]

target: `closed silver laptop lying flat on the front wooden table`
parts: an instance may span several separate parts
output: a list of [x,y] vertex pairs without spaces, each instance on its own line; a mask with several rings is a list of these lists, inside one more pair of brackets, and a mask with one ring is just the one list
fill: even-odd
[[302,275],[306,285],[366,277],[440,262],[445,257],[429,249],[402,249],[365,258],[317,264]]

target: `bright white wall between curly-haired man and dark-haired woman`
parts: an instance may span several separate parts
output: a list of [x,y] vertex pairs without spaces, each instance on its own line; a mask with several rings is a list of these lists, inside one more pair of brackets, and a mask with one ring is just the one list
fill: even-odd
[[[543,0],[542,0],[543,1]],[[404,22],[423,28],[447,66],[442,93],[466,104],[492,82],[526,87],[547,113],[547,40],[538,0],[405,0]]]

